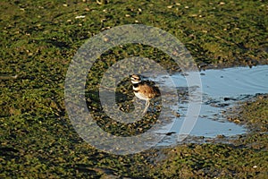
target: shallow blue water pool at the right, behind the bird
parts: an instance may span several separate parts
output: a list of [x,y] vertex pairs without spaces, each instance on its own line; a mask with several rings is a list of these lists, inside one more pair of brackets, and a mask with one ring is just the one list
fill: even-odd
[[[257,93],[268,92],[268,65],[206,70],[200,72],[200,78],[203,97],[201,111],[189,135],[216,138],[246,133],[247,129],[244,126],[229,122],[222,112],[239,101],[254,97]],[[172,81],[179,92],[188,87],[185,76],[180,73],[172,75]],[[159,146],[175,144],[178,141],[178,133],[187,110],[188,99],[181,99],[178,109],[180,117],[176,117],[173,124],[168,124],[172,125],[172,130],[169,131],[172,134],[165,137]],[[170,127],[168,125],[166,128]],[[162,134],[166,132],[168,131],[164,129],[159,131]]]

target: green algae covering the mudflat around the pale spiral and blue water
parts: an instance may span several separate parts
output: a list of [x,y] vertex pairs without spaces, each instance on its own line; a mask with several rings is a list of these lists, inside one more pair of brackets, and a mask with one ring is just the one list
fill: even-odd
[[[100,5],[23,0],[1,1],[0,9],[0,177],[267,177],[266,98],[241,110],[236,119],[255,130],[233,144],[188,144],[129,156],[107,154],[82,141],[63,103],[72,56],[88,38],[123,24],[146,24],[172,33],[200,68],[268,64],[264,1]],[[85,18],[76,18],[82,15]],[[87,90],[93,99],[105,69],[132,55],[151,58],[171,72],[178,70],[169,56],[153,47],[114,47],[88,74]],[[89,104],[99,107],[96,101]]]

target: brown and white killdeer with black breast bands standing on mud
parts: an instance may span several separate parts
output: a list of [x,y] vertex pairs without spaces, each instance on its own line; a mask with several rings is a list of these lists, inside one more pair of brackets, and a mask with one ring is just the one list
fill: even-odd
[[147,109],[150,105],[150,99],[159,97],[160,91],[155,86],[150,85],[146,81],[142,81],[141,77],[137,74],[131,75],[131,83],[133,85],[135,96],[147,101],[146,108],[143,112],[144,114],[147,112]]

